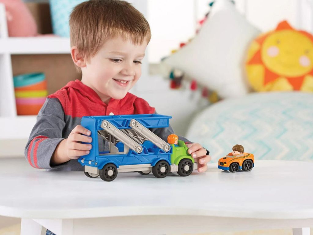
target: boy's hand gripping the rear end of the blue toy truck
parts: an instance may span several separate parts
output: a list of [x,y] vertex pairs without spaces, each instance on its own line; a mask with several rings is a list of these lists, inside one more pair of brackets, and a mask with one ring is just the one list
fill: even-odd
[[89,154],[92,148],[91,144],[81,144],[80,142],[91,143],[92,138],[85,135],[90,135],[90,131],[81,125],[77,125],[69,137],[66,139],[64,152],[70,159],[78,159],[80,156]]

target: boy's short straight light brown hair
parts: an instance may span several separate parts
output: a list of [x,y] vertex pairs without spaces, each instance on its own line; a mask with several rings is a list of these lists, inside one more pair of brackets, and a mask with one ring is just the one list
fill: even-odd
[[71,47],[87,60],[105,40],[121,36],[134,44],[149,43],[151,31],[142,13],[121,0],[90,0],[77,5],[69,18]]

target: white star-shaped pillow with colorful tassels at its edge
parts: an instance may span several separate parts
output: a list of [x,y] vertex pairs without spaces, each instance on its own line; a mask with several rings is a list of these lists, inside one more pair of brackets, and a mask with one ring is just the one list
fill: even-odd
[[229,0],[216,0],[208,19],[190,43],[163,61],[218,92],[222,98],[249,91],[245,54],[260,31]]

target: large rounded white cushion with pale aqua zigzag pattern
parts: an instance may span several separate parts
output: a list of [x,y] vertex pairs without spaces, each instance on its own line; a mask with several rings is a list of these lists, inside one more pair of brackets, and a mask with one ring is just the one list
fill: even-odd
[[210,105],[185,136],[208,149],[212,162],[235,144],[255,159],[313,161],[312,107],[312,93],[250,93]]

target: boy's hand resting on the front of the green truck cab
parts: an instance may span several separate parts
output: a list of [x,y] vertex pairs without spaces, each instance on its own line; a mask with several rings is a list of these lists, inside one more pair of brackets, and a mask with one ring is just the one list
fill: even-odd
[[207,150],[204,149],[198,143],[186,144],[188,149],[188,154],[195,159],[195,162],[198,163],[198,172],[204,172],[208,170],[207,162],[211,161],[211,157],[207,154]]

